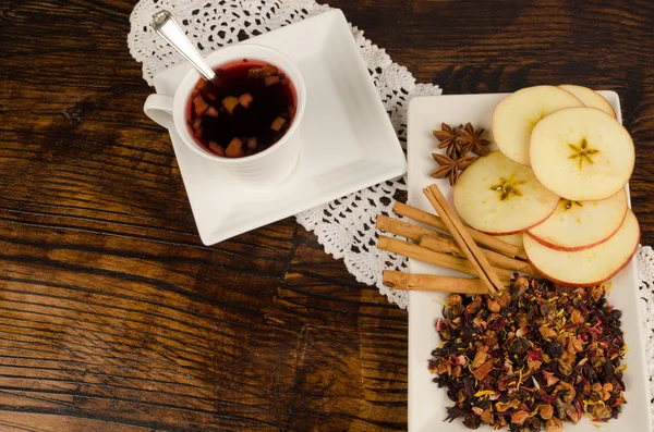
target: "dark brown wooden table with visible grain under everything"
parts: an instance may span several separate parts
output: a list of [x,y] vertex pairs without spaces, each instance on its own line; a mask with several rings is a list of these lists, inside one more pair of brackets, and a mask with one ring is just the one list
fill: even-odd
[[[292,218],[201,244],[134,3],[0,4],[0,430],[405,430],[405,311]],[[463,3],[330,1],[446,94],[618,91],[654,243],[654,3]]]

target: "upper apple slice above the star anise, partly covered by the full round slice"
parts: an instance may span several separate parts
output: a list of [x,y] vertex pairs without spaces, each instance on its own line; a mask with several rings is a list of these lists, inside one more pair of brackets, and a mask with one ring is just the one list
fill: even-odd
[[534,125],[545,115],[570,107],[583,107],[583,102],[555,86],[518,90],[495,107],[493,138],[507,158],[529,166],[529,139]]

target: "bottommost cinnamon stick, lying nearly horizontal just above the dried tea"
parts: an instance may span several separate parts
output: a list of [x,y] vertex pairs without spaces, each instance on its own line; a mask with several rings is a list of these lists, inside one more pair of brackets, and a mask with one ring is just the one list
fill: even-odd
[[[438,276],[435,274],[409,274],[384,270],[385,286],[402,291],[427,291],[436,293],[486,294],[486,285],[479,279]],[[506,286],[509,286],[507,283]]]

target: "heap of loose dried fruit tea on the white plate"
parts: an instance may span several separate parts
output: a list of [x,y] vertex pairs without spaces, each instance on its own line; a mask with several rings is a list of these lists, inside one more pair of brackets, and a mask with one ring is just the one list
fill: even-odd
[[626,347],[605,289],[518,277],[497,299],[450,295],[428,363],[453,402],[446,420],[556,432],[583,415],[617,418]]

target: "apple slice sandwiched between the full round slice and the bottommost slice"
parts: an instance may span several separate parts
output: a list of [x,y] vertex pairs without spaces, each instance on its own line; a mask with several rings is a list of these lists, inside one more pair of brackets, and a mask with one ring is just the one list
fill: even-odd
[[601,201],[561,199],[545,222],[528,231],[536,242],[561,250],[581,250],[606,242],[627,215],[627,193]]

